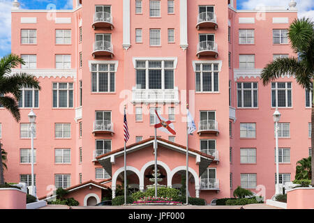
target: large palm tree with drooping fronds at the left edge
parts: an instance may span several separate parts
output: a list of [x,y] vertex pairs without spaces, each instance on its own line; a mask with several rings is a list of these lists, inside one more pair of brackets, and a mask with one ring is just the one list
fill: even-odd
[[[20,64],[24,65],[25,62],[15,54],[8,54],[0,60],[0,105],[8,109],[17,122],[21,119],[17,104],[21,98],[20,89],[23,86],[29,86],[40,90],[39,82],[35,76],[24,72],[11,74],[12,68],[17,68]],[[1,163],[2,156],[0,155]],[[3,168],[0,165],[0,185],[3,183]]]

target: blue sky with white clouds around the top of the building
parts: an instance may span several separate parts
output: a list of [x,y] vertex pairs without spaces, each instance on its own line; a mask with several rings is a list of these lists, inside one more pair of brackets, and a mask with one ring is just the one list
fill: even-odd
[[[0,57],[10,53],[10,8],[13,0],[0,0]],[[116,0],[118,1],[118,0]],[[288,6],[291,0],[237,0],[237,9],[253,9],[256,6]],[[314,0],[295,0],[299,17],[314,18]],[[57,9],[72,9],[73,0],[19,0],[24,9],[47,9],[52,3]],[[51,8],[49,8],[51,9]]]

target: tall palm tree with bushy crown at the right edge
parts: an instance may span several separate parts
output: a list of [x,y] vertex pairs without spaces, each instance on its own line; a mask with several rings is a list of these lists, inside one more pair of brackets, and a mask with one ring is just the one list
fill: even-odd
[[[304,89],[312,91],[314,75],[314,23],[308,18],[296,19],[289,27],[288,37],[292,49],[299,58],[290,57],[276,59],[262,70],[261,79],[264,86],[283,75],[293,75]],[[314,91],[312,91],[312,154],[314,154]],[[312,159],[314,172],[314,159]],[[311,184],[314,185],[314,176]]]

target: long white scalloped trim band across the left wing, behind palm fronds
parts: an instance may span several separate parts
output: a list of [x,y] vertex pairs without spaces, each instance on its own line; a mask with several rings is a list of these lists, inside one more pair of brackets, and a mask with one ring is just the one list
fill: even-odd
[[48,78],[73,78],[77,77],[77,70],[75,69],[12,69],[12,73],[26,72],[27,74],[34,75],[35,77],[48,77]]

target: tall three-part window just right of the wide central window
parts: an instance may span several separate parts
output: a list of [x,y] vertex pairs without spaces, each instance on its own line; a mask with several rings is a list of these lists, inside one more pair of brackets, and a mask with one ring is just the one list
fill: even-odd
[[218,63],[195,64],[196,92],[218,92]]

